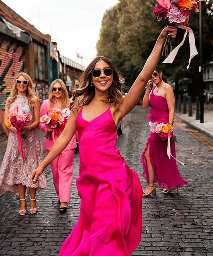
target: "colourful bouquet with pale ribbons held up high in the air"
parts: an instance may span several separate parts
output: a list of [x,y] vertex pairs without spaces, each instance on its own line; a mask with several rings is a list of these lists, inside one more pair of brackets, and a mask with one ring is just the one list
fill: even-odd
[[[189,23],[190,13],[199,12],[198,2],[202,0],[157,0],[158,6],[155,7],[153,13],[157,16],[157,19],[160,21],[162,19],[167,20],[169,26],[176,25],[181,29],[185,29],[185,35],[183,41],[175,48],[174,38],[170,38],[167,35],[163,50],[162,56],[169,56],[165,59],[164,63],[172,63],[178,49],[183,45],[187,32],[189,32],[189,41],[190,41],[190,60],[198,53],[195,46],[195,38],[193,31],[187,27]],[[174,52],[173,52],[174,51]],[[173,54],[172,54],[173,52]],[[189,64],[190,64],[189,60]],[[189,65],[187,66],[188,69]]]

